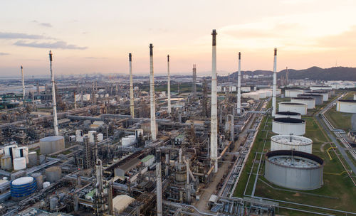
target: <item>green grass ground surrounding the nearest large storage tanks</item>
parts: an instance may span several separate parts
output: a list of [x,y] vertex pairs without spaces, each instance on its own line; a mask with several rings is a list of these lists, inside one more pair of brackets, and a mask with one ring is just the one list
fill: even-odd
[[[307,205],[315,205],[319,207],[329,207],[337,210],[345,210],[350,212],[356,212],[356,188],[352,184],[350,178],[347,177],[346,173],[343,173],[344,168],[342,164],[337,159],[337,156],[333,151],[330,152],[330,157],[328,156],[327,150],[330,148],[329,140],[327,136],[320,129],[320,126],[315,121],[313,117],[308,117],[306,125],[306,134],[305,136],[313,140],[313,154],[320,156],[324,160],[324,185],[316,190],[307,190],[307,191],[286,191],[286,188],[281,188],[271,183],[263,178],[264,167],[261,164],[261,169],[259,172],[258,182],[256,184],[256,192],[255,195],[263,198],[271,198],[276,200],[285,200],[289,202],[298,202]],[[263,129],[264,123],[267,122],[267,130],[271,131],[271,118],[264,118],[261,124],[261,128]],[[263,150],[264,139],[267,135],[266,146]],[[243,197],[245,185],[248,179],[248,173],[251,172],[251,167],[253,166],[253,158],[255,157],[256,152],[267,152],[270,148],[270,137],[273,136],[271,132],[268,131],[258,131],[258,135],[256,136],[255,143],[253,144],[253,148],[250,156],[248,157],[248,161],[244,170],[241,173],[239,184],[236,186],[236,190],[234,195],[236,197]],[[258,154],[256,160],[259,160],[261,154]],[[253,173],[257,171],[258,163],[254,164]],[[253,183],[256,178],[256,175],[251,175],[251,178],[248,182],[248,188],[246,190],[246,195],[251,195]],[[270,184],[273,188],[263,183],[261,180]],[[275,189],[278,188],[278,189]],[[310,194],[305,194],[310,193]],[[288,206],[286,204],[280,203],[280,205]],[[295,207],[289,205],[290,207]],[[297,207],[300,208],[300,207]],[[304,209],[305,207],[303,207]],[[315,209],[314,209],[315,210]],[[294,212],[290,210],[280,209],[279,211],[282,215],[300,215],[300,212]],[[308,215],[303,213],[302,215]]]

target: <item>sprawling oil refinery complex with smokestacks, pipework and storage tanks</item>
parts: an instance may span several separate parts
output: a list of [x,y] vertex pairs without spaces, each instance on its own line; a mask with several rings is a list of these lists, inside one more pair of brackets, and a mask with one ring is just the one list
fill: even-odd
[[219,76],[218,45],[206,77],[169,53],[155,76],[152,44],[145,76],[135,53],[127,75],[56,76],[54,50],[47,78],[20,65],[0,81],[0,215],[356,215],[356,89],[278,78],[277,48],[271,76],[239,51]]

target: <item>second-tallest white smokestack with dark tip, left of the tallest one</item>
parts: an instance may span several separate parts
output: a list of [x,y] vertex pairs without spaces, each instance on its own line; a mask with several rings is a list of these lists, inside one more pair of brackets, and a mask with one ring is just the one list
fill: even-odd
[[151,137],[156,140],[156,109],[155,109],[155,77],[153,75],[153,45],[150,43],[150,107],[151,107]]

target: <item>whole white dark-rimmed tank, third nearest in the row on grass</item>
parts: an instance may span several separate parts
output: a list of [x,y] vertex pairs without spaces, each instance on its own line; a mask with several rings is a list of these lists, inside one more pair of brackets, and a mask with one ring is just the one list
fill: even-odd
[[294,118],[276,118],[272,121],[272,131],[281,135],[304,135],[305,120]]

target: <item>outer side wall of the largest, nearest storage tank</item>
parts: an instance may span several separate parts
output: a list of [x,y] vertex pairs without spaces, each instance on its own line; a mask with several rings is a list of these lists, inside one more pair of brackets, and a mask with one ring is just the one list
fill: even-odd
[[323,185],[323,166],[293,168],[266,160],[265,178],[271,183],[296,190],[313,190]]

